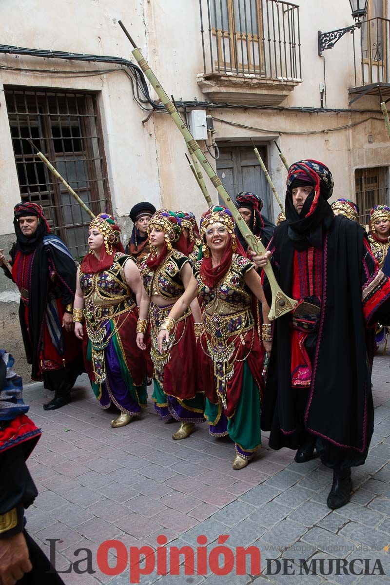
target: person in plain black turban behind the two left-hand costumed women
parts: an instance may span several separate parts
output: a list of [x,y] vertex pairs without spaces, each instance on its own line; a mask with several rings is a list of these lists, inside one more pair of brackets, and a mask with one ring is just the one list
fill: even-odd
[[151,216],[156,213],[156,207],[148,201],[142,201],[134,205],[130,211],[130,219],[134,223],[132,235],[126,246],[126,254],[133,256],[138,266],[149,256],[150,245],[147,226]]

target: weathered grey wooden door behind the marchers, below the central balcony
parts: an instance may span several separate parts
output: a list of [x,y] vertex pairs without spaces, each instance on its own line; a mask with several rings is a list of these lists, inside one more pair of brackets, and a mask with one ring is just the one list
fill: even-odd
[[[267,148],[265,146],[257,148],[267,167]],[[253,148],[251,146],[227,146],[220,147],[219,151],[217,174],[233,201],[240,191],[256,193],[264,202],[261,213],[273,221],[270,189]],[[220,204],[223,205],[223,202],[220,201]]]

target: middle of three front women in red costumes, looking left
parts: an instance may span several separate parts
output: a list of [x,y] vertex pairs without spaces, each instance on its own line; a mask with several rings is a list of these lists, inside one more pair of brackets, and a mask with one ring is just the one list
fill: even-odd
[[[172,436],[179,441],[191,434],[196,422],[204,421],[203,393],[195,374],[195,329],[199,328],[201,311],[198,301],[192,299],[191,308],[188,304],[180,319],[175,322],[168,319],[172,305],[192,279],[191,262],[178,250],[187,250],[180,219],[174,212],[160,209],[151,218],[148,229],[152,252],[141,264],[147,294],[141,301],[137,343],[146,350],[143,338],[150,318],[154,409],[164,421],[181,422]],[[161,328],[169,328],[172,335],[170,343],[161,346],[160,351],[157,335]]]

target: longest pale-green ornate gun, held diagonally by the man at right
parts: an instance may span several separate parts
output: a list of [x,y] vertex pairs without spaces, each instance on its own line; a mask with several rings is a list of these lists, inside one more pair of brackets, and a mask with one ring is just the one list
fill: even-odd
[[[144,59],[141,51],[137,49],[136,44],[134,43],[132,37],[130,37],[125,26],[120,20],[118,20],[118,24],[120,25],[123,32],[127,36],[127,39],[129,39],[130,43],[134,47],[134,50],[132,51],[134,59],[139,64],[141,70],[146,75],[147,79],[150,81],[150,84],[156,91],[158,97],[161,99],[161,102],[164,104],[165,109],[170,114],[171,118],[173,119],[178,129],[184,136],[185,142],[191,147],[192,152],[195,154],[196,158],[199,160],[199,163],[201,163],[203,169],[206,171],[208,177],[210,178],[210,181],[218,191],[220,197],[222,197],[223,201],[225,202],[226,207],[230,210],[230,212],[232,212],[232,215],[236,220],[237,227],[244,236],[246,242],[249,244],[249,246],[251,247],[255,254],[259,256],[264,256],[265,247],[260,242],[260,240],[258,240],[256,236],[253,235],[253,233],[247,226],[236,205],[234,205],[234,202],[232,201],[232,198],[230,197],[229,193],[226,191],[225,187],[223,187],[220,178],[216,175],[215,170],[212,168],[209,161],[205,158],[204,154],[202,153],[202,150],[199,148],[198,143],[196,142],[196,140],[194,140],[194,137],[192,136],[191,132],[189,132],[187,126],[185,126],[184,122],[181,119],[180,114],[177,112],[177,109],[172,104],[171,100],[168,98],[168,95],[165,93],[164,89],[161,87],[161,84],[157,80],[156,75],[154,75],[153,71],[151,71],[149,64]],[[271,264],[269,262],[267,263],[266,266],[264,266],[264,272],[265,274],[267,274],[272,292],[272,302],[268,318],[270,318],[270,320],[273,320],[292,311],[292,309],[294,309],[298,303],[294,299],[289,298],[287,295],[285,295],[284,292],[281,290],[275,278],[274,272],[272,271]]]

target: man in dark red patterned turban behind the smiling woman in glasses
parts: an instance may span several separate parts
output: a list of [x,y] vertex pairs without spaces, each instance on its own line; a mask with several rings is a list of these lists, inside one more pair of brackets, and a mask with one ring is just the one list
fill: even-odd
[[[276,226],[264,215],[261,215],[260,212],[263,208],[263,201],[255,193],[241,191],[236,195],[236,207],[239,209],[247,226],[249,226],[256,238],[258,238],[266,248],[272,238]],[[247,251],[248,244],[237,226],[236,238],[239,239],[241,246]]]

